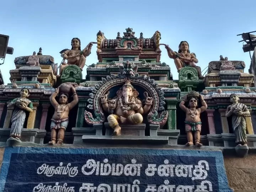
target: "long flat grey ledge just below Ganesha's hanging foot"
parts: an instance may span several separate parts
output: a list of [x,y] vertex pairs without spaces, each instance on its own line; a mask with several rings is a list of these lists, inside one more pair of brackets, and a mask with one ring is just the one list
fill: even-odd
[[150,136],[136,136],[130,135],[119,136],[99,136],[99,135],[83,135],[82,140],[84,143],[114,143],[114,144],[168,144],[168,137],[150,137]]

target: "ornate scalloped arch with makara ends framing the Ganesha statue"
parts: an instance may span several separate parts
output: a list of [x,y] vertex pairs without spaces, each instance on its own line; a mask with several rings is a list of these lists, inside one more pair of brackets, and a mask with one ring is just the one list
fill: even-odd
[[[120,72],[117,76],[111,75],[106,78],[102,78],[95,85],[94,90],[90,94],[88,102],[90,103],[87,108],[94,111],[94,115],[91,112],[85,111],[85,121],[87,124],[103,123],[106,121],[105,110],[102,107],[101,97],[107,96],[107,102],[122,97],[118,92],[122,90],[122,86],[128,82],[134,86],[134,90],[139,88],[139,96],[134,95],[134,99],[140,100],[138,103],[142,103],[142,106],[146,105],[146,98],[152,98],[152,104],[149,112],[147,113],[147,119],[143,119],[143,122],[148,121],[153,124],[160,124],[163,126],[166,123],[168,112],[164,111],[165,98],[164,92],[158,87],[158,84],[154,79],[150,79],[146,76],[139,76],[137,73],[137,66],[133,67],[133,63],[129,61],[124,62],[123,66],[119,65]],[[119,88],[120,87],[120,88]],[[136,87],[136,88],[135,88]],[[143,90],[143,91],[142,91]],[[143,93],[144,92],[144,93]],[[114,96],[115,95],[115,96]],[[114,97],[113,97],[114,96]],[[143,98],[143,96],[145,98]],[[116,104],[117,105],[117,104]],[[112,110],[110,114],[114,114]]]

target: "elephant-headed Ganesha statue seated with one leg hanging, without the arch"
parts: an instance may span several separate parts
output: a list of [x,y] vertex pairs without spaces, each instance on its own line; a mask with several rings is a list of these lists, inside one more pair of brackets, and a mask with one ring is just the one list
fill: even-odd
[[134,89],[130,81],[126,81],[121,89],[117,91],[117,98],[107,100],[108,94],[101,96],[102,108],[108,113],[108,123],[114,129],[113,135],[121,134],[119,123],[123,124],[139,124],[143,122],[143,114],[150,111],[153,98],[148,97],[148,93],[144,92],[146,97],[145,106],[137,97],[139,92]]

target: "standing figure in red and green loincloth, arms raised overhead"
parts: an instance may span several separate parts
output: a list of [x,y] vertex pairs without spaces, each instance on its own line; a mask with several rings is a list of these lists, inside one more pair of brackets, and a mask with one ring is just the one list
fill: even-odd
[[[188,95],[192,95],[191,92],[188,93]],[[202,122],[200,119],[200,114],[207,109],[207,104],[204,101],[203,97],[198,94],[198,97],[200,98],[202,103],[202,107],[197,108],[198,97],[194,95],[187,98],[188,95],[186,95],[183,98],[183,100],[180,102],[180,108],[182,109],[182,111],[186,113],[185,130],[187,133],[187,140],[188,140],[188,143],[186,145],[187,146],[193,145],[192,132],[194,132],[195,145],[198,147],[201,147],[202,144],[200,143],[200,133],[201,133]],[[188,101],[188,107],[185,106],[185,103],[187,101]]]

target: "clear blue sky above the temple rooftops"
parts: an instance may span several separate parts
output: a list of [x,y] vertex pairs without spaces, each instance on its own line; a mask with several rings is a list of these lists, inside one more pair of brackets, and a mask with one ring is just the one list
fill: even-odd
[[[96,41],[99,30],[106,38],[114,39],[127,27],[133,28],[136,37],[143,32],[145,38],[158,30],[161,43],[176,51],[180,41],[188,41],[202,69],[223,55],[229,60],[243,60],[247,73],[250,56],[243,52],[242,43],[238,43],[241,36],[236,35],[256,30],[256,4],[241,0],[2,0],[0,9],[0,34],[9,35],[9,47],[14,48],[14,54],[6,55],[5,63],[0,65],[5,84],[10,82],[9,71],[15,69],[15,57],[32,55],[42,47],[44,55],[52,55],[60,64],[59,52],[71,48],[73,37],[81,39],[83,49]],[[178,79],[174,61],[164,46],[161,50],[161,62],[169,64],[174,79]],[[97,61],[94,45],[86,65]]]

